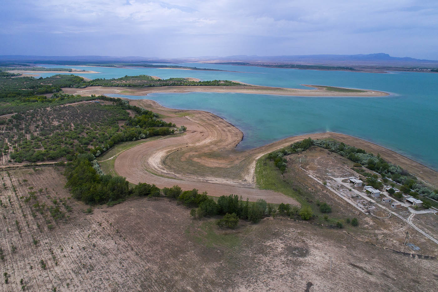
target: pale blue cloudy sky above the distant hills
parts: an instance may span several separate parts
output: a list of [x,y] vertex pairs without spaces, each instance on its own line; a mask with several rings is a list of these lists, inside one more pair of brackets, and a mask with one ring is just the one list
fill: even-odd
[[11,0],[0,55],[438,60],[437,0]]

